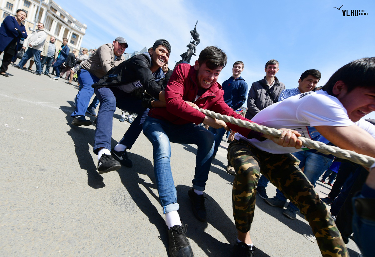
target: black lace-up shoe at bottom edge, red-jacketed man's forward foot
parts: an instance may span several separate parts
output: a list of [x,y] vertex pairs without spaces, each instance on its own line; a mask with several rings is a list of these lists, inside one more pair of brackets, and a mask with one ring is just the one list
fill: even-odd
[[186,238],[187,224],[174,225],[168,230],[169,256],[172,257],[192,257],[189,241]]

